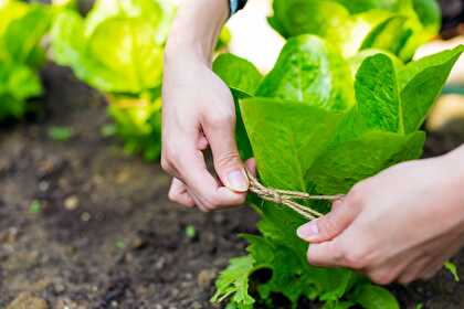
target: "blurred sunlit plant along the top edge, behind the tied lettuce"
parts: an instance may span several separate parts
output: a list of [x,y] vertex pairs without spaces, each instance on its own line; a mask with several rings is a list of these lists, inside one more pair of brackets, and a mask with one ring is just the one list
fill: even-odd
[[382,49],[410,60],[440,29],[435,0],[274,0],[272,26],[285,38],[316,34],[345,56]]

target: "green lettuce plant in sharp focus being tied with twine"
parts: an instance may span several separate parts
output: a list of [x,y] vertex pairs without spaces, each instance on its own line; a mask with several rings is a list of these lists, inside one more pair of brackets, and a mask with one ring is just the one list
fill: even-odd
[[[345,57],[337,44],[315,35],[292,38],[262,79],[233,55],[215,72],[234,93],[242,153],[254,156],[271,188],[314,194],[346,193],[358,181],[394,163],[419,158],[425,116],[464,46],[404,64],[390,52]],[[241,128],[240,128],[241,127]],[[250,148],[251,147],[251,148]],[[252,154],[251,154],[252,153]],[[307,202],[327,212],[327,202]],[[255,202],[261,236],[243,235],[249,255],[234,258],[217,281],[213,301],[228,308],[273,307],[272,295],[293,308],[302,297],[324,308],[399,308],[384,288],[347,269],[308,265],[307,244],[295,234],[305,220],[282,205]],[[267,269],[264,284],[252,275]]]

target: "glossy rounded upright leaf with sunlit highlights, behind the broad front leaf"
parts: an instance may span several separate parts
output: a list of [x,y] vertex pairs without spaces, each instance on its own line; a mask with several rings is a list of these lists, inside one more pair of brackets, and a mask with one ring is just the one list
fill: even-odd
[[325,41],[314,35],[288,40],[257,96],[276,97],[344,110],[354,104],[349,66]]

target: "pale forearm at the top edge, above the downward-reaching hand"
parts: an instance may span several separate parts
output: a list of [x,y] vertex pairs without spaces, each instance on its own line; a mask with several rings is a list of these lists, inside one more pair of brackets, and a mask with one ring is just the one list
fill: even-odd
[[183,1],[166,46],[166,61],[193,56],[209,65],[229,13],[228,0]]

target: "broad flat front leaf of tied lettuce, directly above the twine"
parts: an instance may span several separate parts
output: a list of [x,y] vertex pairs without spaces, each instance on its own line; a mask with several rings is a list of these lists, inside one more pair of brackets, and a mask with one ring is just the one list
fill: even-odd
[[[305,172],[333,139],[342,114],[271,98],[244,99],[240,107],[265,183],[307,190]],[[292,124],[283,126],[282,119]]]

